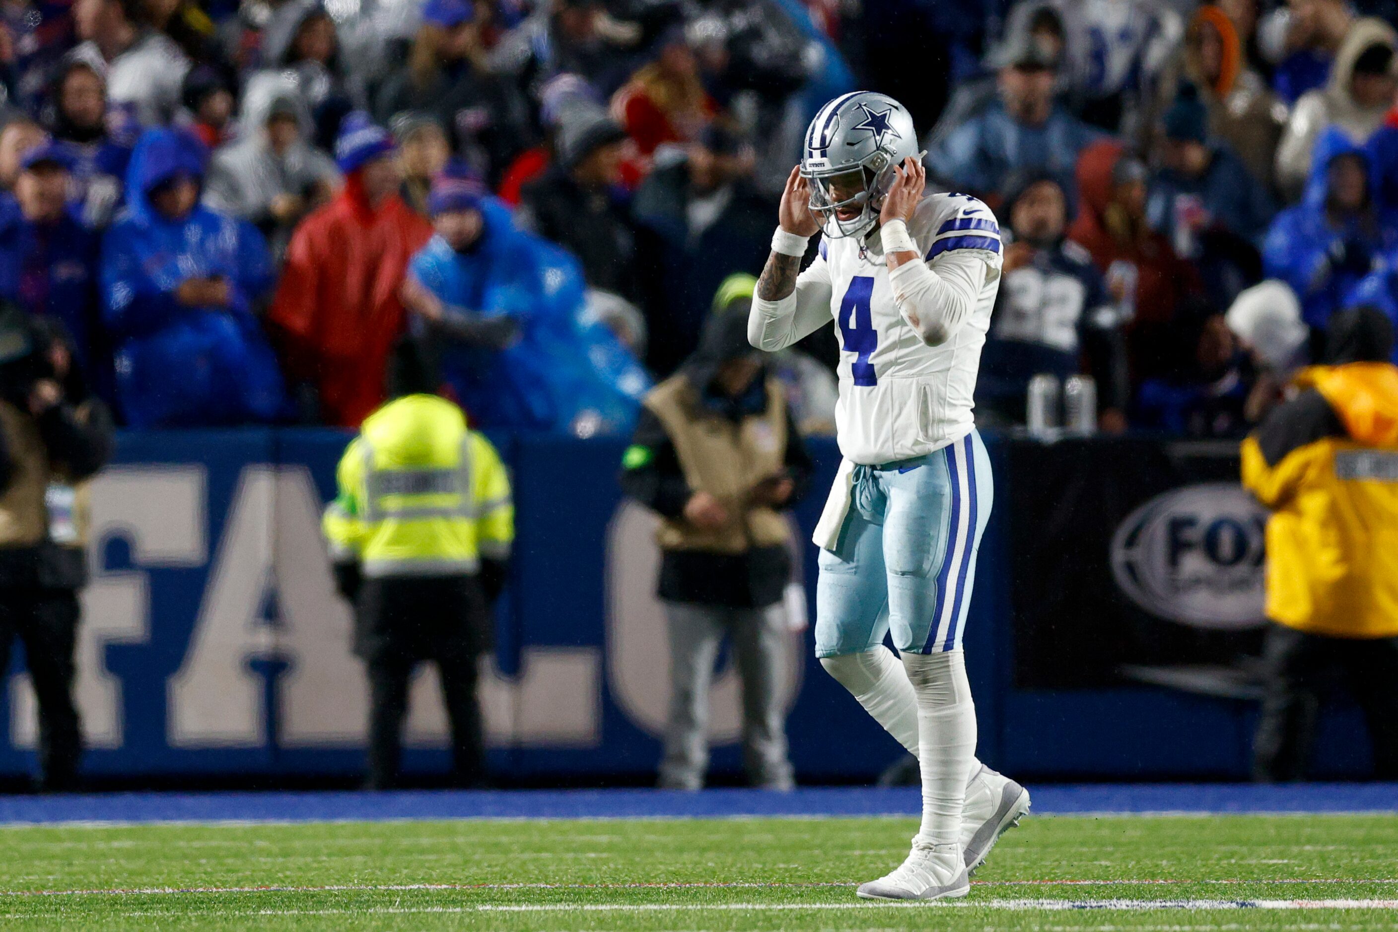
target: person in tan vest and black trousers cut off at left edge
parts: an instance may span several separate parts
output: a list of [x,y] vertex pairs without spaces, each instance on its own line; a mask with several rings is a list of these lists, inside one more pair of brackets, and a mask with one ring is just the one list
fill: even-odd
[[0,310],[0,675],[24,641],[39,700],[42,788],[77,785],[73,703],[78,591],[87,583],[87,489],[112,451],[62,327]]

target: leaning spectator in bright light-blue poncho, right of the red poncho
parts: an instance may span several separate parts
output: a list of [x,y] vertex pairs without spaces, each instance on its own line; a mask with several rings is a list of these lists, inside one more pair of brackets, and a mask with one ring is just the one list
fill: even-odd
[[404,302],[473,423],[629,430],[650,381],[583,313],[577,261],[514,228],[467,169],[439,177],[428,208],[436,235],[408,265]]

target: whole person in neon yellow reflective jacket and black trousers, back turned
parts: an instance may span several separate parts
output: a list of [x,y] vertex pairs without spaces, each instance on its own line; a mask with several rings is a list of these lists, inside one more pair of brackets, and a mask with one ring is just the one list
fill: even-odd
[[514,506],[495,447],[433,386],[401,342],[390,401],[340,460],[340,492],[323,521],[369,673],[370,789],[397,781],[408,683],[422,661],[440,673],[454,782],[485,777],[477,669],[493,646],[489,606],[505,581]]

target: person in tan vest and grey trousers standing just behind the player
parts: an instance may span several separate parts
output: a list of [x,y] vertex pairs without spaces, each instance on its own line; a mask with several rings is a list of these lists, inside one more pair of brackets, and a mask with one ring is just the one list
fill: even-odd
[[703,787],[709,682],[724,636],[742,682],[744,766],[754,785],[788,789],[777,703],[791,578],[780,514],[811,460],[781,384],[748,344],[751,292],[716,302],[698,352],[646,395],[622,460],[622,490],[657,511],[658,594],[670,634],[671,703],[660,785]]

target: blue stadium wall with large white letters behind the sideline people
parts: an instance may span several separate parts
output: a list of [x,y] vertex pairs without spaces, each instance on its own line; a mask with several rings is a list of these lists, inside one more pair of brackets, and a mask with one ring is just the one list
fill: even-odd
[[[94,581],[84,595],[78,697],[95,776],[354,774],[365,686],[350,612],[331,585],[319,510],[347,435],[334,430],[127,433],[94,488]],[[512,585],[484,706],[506,778],[644,780],[665,714],[664,629],[653,597],[654,518],[625,506],[622,442],[496,437],[519,506]],[[1153,686],[1016,689],[1007,444],[966,629],[980,755],[1011,773],[1071,778],[1243,778],[1251,703]],[[809,530],[839,454],[812,443],[816,479],[794,514],[807,602]],[[801,780],[868,782],[903,756],[793,633],[791,755]],[[724,660],[713,769],[741,769]],[[32,696],[15,657],[0,699],[0,774],[32,771]],[[431,676],[417,685],[405,766],[447,766]],[[1357,715],[1324,731],[1335,777],[1367,767]]]

